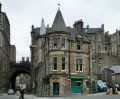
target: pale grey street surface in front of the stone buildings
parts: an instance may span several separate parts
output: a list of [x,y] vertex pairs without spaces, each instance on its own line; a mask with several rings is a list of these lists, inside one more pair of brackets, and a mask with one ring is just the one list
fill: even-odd
[[[120,91],[118,92],[117,95],[106,95],[106,93],[95,93],[95,94],[74,94],[71,96],[59,96],[59,97],[38,97],[35,95],[24,95],[25,99],[120,99]],[[19,99],[19,95],[7,95],[3,94],[0,96],[0,99]]]

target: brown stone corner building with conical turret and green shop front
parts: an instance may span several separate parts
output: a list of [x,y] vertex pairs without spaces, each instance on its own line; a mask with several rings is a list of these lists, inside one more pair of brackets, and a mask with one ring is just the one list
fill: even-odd
[[82,93],[90,75],[90,41],[83,33],[82,20],[73,28],[66,27],[58,9],[52,27],[45,27],[43,19],[40,28],[32,26],[31,40],[36,94]]

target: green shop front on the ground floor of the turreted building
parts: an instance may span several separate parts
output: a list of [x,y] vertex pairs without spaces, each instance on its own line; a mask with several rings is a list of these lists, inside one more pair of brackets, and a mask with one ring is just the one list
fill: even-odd
[[83,93],[83,79],[84,77],[79,74],[71,75],[71,92]]

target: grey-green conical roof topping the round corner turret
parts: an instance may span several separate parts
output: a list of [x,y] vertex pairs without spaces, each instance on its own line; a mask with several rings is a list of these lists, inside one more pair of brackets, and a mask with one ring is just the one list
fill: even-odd
[[52,31],[66,31],[66,25],[64,22],[64,19],[62,17],[62,13],[60,9],[58,9],[53,25],[52,25]]

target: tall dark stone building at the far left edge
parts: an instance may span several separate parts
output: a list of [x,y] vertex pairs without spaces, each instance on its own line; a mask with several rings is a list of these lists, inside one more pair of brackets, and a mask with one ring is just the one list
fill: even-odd
[[10,24],[6,13],[1,11],[0,3],[0,91],[9,87],[10,67]]

